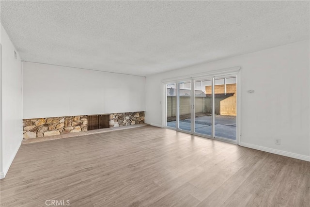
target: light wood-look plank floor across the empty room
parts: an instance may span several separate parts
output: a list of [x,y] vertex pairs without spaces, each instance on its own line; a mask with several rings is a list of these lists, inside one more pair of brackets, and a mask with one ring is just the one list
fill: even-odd
[[308,207],[310,162],[149,126],[24,144],[0,185],[1,207]]

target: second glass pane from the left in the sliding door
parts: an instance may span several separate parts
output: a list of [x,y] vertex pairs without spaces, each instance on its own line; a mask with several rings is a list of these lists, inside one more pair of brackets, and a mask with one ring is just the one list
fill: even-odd
[[191,131],[191,81],[179,82],[179,128]]

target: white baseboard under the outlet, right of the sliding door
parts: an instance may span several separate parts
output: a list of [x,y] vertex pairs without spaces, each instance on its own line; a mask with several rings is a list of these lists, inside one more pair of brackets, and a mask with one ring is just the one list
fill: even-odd
[[259,146],[259,145],[255,145],[255,144],[249,144],[249,143],[243,143],[243,142],[240,143],[240,146],[244,146],[244,147],[248,147],[248,148],[252,148],[252,149],[257,149],[257,150],[261,150],[264,152],[270,152],[270,153],[277,154],[277,155],[283,155],[283,156],[290,157],[290,158],[310,161],[310,156],[300,155],[300,154],[287,152],[287,151],[283,151],[283,150],[272,149],[269,147],[264,147],[264,146]]

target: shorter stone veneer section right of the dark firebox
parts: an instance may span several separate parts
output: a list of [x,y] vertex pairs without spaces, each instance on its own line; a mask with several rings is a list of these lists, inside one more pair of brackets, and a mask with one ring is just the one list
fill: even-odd
[[143,123],[144,111],[110,114],[110,127],[121,127]]

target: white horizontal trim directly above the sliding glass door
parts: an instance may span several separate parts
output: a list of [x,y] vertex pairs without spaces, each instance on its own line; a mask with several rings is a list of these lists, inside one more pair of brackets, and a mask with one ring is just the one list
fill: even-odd
[[222,68],[222,69],[217,69],[217,70],[211,70],[203,73],[197,73],[193,75],[186,75],[186,76],[180,76],[180,77],[175,77],[175,78],[170,78],[170,79],[163,79],[161,82],[163,83],[170,83],[170,82],[175,82],[175,81],[182,81],[182,80],[189,80],[189,79],[199,79],[199,78],[204,78],[204,77],[209,77],[209,76],[218,76],[218,75],[230,75],[230,74],[235,74],[239,72],[241,69],[241,66],[235,66],[235,67],[229,67],[229,68]]

